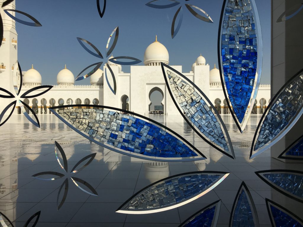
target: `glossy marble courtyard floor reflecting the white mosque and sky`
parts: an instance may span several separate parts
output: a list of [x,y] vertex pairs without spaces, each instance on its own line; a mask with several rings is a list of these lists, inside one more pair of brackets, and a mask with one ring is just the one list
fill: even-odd
[[[223,120],[235,149],[236,160],[224,156],[195,135],[180,116],[149,116],[170,127],[197,147],[208,158],[187,163],[164,163],[140,160],[121,155],[91,143],[60,122],[55,116],[39,116],[41,129],[17,115],[1,127],[0,212],[15,226],[41,210],[37,226],[178,226],[189,216],[221,199],[218,227],[228,226],[230,212],[242,181],[254,199],[260,226],[271,226],[265,198],[277,202],[300,217],[303,204],[288,198],[264,183],[256,171],[269,169],[302,170],[303,164],[283,163],[265,151],[249,160],[249,151],[256,125],[252,116],[241,134],[229,116]],[[95,159],[75,176],[85,179],[99,196],[91,196],[69,182],[68,196],[57,211],[57,194],[64,179],[41,181],[35,173],[62,173],[55,158],[54,143],[60,143],[70,167],[91,153]],[[122,214],[116,209],[142,188],[175,174],[191,171],[224,171],[231,173],[215,189],[195,201],[176,209],[152,214]],[[60,172],[61,171],[61,172]]]

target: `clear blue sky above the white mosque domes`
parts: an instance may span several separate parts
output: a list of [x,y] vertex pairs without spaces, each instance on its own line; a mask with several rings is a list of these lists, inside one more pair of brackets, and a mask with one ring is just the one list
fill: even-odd
[[[263,36],[263,68],[261,83],[270,83],[270,0],[255,0]],[[102,1],[101,1],[102,2]],[[85,67],[100,59],[88,54],[76,37],[92,42],[105,56],[112,30],[119,26],[114,56],[131,56],[143,61],[149,44],[158,41],[169,52],[170,65],[182,65],[189,72],[202,54],[211,68],[218,65],[218,27],[223,0],[190,0],[210,15],[214,23],[206,23],[183,7],[180,31],[171,39],[171,22],[179,6],[155,9],[145,6],[149,0],[110,0],[100,18],[95,0],[16,0],[16,9],[35,17],[42,27],[17,23],[18,61],[23,71],[34,68],[42,75],[42,84],[56,84],[60,70],[67,65],[76,77]],[[185,0],[180,0],[184,3]],[[18,14],[17,14],[18,15]],[[23,17],[22,17],[23,18]],[[143,62],[141,63],[143,65]],[[129,66],[122,66],[129,72]],[[75,84],[89,84],[89,78]]]

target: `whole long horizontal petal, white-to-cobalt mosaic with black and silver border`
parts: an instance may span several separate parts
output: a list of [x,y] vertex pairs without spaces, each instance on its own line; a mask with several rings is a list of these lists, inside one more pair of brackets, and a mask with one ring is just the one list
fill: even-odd
[[133,112],[97,105],[68,105],[49,109],[85,138],[118,153],[158,161],[206,159],[171,129]]

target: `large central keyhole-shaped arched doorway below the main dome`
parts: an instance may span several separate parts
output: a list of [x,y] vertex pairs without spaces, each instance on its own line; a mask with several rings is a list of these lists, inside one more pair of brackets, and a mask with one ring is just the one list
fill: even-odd
[[150,104],[148,105],[148,112],[150,114],[163,114],[164,104],[162,100],[164,98],[164,93],[159,87],[154,87],[149,91],[148,94]]

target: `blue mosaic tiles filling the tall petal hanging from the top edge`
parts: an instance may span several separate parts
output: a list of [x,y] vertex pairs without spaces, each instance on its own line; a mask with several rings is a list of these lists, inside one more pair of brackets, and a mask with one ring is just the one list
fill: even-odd
[[[251,85],[248,78],[255,79],[256,76],[256,71],[249,69],[257,67],[258,43],[251,0],[228,0],[223,24],[227,25],[227,33],[222,35],[221,58],[224,75],[229,74],[224,79],[233,111],[241,123],[252,93],[252,89],[247,87]],[[239,38],[235,39],[235,37]],[[229,45],[227,46],[225,42]],[[241,61],[242,57],[243,60],[248,60],[251,56],[255,57],[251,63]],[[231,81],[235,81],[233,86]]]

